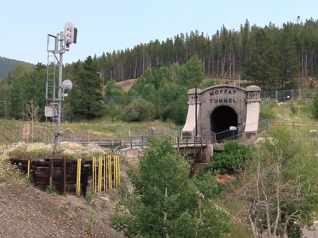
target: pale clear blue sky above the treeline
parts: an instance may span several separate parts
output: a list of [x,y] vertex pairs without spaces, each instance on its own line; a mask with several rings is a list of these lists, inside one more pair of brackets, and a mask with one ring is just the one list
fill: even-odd
[[77,44],[63,55],[72,63],[191,30],[211,38],[223,24],[239,30],[248,19],[251,26],[281,27],[297,16],[318,19],[317,0],[0,0],[0,56],[46,64],[47,34],[66,22],[78,29]]

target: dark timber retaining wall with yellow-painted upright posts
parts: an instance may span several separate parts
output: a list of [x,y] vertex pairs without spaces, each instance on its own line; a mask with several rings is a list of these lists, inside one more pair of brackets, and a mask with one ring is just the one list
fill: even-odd
[[24,173],[30,173],[38,188],[45,190],[51,183],[59,195],[79,195],[79,193],[86,195],[86,192],[95,194],[120,187],[118,155],[93,157],[92,160],[65,158],[41,160],[11,158],[10,160],[21,167]]

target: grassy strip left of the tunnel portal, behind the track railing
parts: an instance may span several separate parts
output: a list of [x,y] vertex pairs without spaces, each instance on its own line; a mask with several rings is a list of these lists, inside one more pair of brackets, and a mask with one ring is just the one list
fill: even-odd
[[[0,119],[0,143],[25,141],[22,139],[23,125],[26,121]],[[31,127],[31,123],[30,123]],[[30,128],[30,138],[28,142],[44,142],[45,122],[36,122],[33,126],[33,139],[31,139],[32,128]],[[150,129],[154,127],[159,130],[179,130],[181,126],[176,126],[172,122],[162,122],[159,120],[127,123],[122,121],[110,121],[107,118],[98,118],[91,121],[63,122],[61,124],[61,139],[86,139],[87,131],[90,139],[114,139],[119,136],[137,136],[137,129]]]

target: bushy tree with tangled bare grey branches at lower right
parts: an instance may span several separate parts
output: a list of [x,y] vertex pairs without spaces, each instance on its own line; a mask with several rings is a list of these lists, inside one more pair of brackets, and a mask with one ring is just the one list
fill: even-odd
[[297,147],[290,146],[288,137],[267,139],[237,171],[240,183],[229,184],[243,204],[238,220],[248,224],[255,238],[287,238],[313,219],[311,202],[317,199],[309,200],[318,182],[316,158],[310,149]]

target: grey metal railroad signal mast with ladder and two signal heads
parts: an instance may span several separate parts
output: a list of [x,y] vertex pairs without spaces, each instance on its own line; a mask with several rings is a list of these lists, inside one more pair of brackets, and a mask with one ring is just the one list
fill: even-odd
[[[68,96],[68,91],[71,90],[73,86],[70,80],[64,80],[62,82],[63,54],[70,50],[72,43],[76,44],[76,38],[77,29],[71,22],[67,22],[64,25],[64,31],[60,31],[56,36],[47,35],[45,145],[51,144],[52,146],[54,145],[54,147],[58,147],[60,144],[60,127],[63,118],[61,103],[64,101],[64,97]],[[56,77],[56,65],[59,66],[58,78]]]

